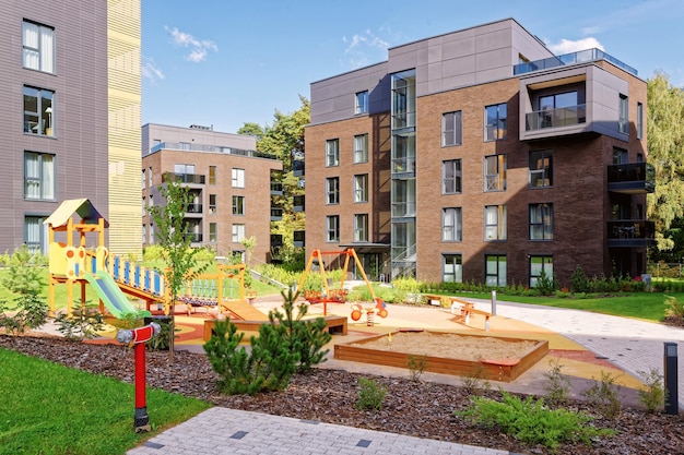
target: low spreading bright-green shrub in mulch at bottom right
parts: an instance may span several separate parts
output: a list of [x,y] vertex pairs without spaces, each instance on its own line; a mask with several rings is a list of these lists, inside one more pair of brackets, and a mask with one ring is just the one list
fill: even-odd
[[581,442],[590,445],[591,439],[614,434],[612,430],[600,430],[588,426],[591,418],[581,412],[566,409],[551,410],[544,399],[524,400],[502,392],[502,402],[474,397],[473,406],[455,415],[472,423],[499,428],[507,434],[530,444],[543,444],[555,452],[562,442]]

